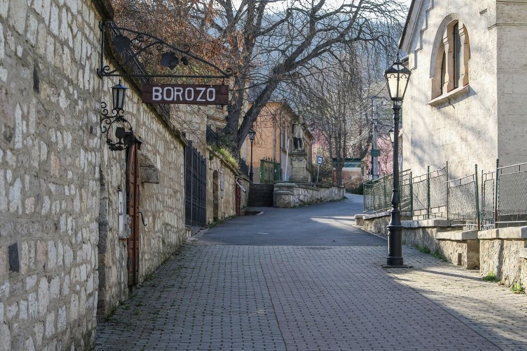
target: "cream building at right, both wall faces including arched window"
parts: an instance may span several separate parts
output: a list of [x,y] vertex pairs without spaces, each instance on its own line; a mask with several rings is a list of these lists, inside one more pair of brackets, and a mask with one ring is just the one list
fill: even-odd
[[400,48],[412,71],[404,165],[453,178],[525,161],[525,1],[414,0]]

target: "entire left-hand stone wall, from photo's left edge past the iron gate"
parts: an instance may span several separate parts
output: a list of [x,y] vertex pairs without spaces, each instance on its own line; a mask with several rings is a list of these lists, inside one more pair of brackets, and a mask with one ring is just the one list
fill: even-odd
[[[190,131],[184,137],[174,112],[142,103],[138,81],[123,78],[123,114],[140,142],[111,151],[101,132],[101,102],[111,105],[118,78],[96,73],[99,24],[112,18],[107,0],[0,4],[2,350],[92,348],[97,318],[188,238]],[[104,53],[110,67],[119,60]],[[210,145],[199,149],[203,223],[212,221],[215,186],[219,217],[236,214],[246,178]],[[123,211],[133,214],[130,232]]]

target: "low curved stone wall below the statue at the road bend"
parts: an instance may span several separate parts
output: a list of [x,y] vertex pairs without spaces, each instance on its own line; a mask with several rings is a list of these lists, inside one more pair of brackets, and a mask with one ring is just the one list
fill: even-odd
[[290,208],[319,202],[335,201],[344,198],[345,188],[317,188],[295,183],[276,183],[274,207]]

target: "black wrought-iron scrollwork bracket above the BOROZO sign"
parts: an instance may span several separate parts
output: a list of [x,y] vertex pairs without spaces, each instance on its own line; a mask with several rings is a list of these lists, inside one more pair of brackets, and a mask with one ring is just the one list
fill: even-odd
[[[100,76],[226,79],[232,74],[231,69],[222,70],[192,53],[187,44],[176,47],[148,33],[119,27],[112,21],[100,23],[99,27],[102,35],[97,74]],[[105,43],[110,43],[122,57],[122,62],[113,70],[104,65]],[[196,65],[211,74],[196,74]],[[149,74],[144,67],[157,73]]]

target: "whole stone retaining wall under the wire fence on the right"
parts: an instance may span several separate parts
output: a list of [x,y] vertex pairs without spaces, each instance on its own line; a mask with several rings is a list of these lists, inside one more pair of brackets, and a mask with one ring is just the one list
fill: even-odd
[[[389,212],[357,214],[357,225],[386,235]],[[493,273],[505,285],[527,285],[527,227],[460,230],[460,221],[403,220],[403,242],[440,253],[448,262],[467,269]]]

